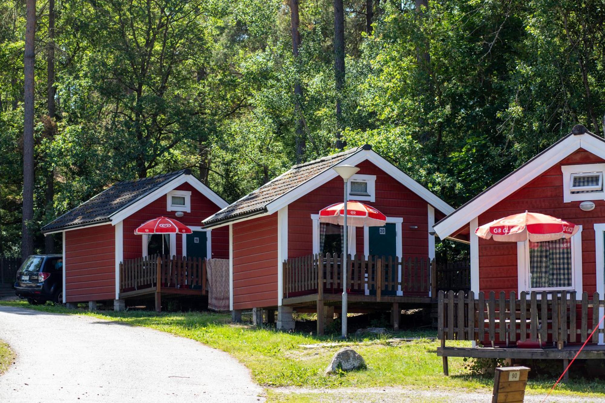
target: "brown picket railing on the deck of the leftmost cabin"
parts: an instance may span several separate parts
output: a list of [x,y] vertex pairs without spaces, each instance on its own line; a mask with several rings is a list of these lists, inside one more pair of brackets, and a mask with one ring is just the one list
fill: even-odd
[[120,263],[120,292],[157,287],[206,294],[206,259],[151,255]]

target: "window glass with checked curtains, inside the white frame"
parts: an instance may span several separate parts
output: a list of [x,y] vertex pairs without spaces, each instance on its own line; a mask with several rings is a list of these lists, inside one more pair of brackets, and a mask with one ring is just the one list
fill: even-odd
[[532,288],[571,287],[571,240],[529,241],[529,273]]

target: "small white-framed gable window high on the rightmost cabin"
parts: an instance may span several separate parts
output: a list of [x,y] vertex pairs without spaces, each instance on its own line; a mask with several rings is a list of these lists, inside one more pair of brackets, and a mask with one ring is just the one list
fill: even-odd
[[563,202],[605,200],[605,164],[563,165]]

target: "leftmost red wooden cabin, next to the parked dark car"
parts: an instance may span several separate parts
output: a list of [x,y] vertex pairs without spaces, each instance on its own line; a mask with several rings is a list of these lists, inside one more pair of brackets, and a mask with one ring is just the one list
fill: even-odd
[[[119,182],[42,228],[63,235],[64,303],[120,299],[120,263],[146,255],[229,257],[226,228],[201,220],[227,205],[189,169]],[[181,215],[182,214],[182,215]],[[193,233],[135,235],[152,218],[177,217]]]

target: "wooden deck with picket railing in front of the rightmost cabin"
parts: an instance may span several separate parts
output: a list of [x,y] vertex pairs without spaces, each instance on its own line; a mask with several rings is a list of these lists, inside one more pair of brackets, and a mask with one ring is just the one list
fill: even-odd
[[[578,300],[575,292],[521,292],[519,299],[511,292],[506,298],[500,292],[478,298],[469,291],[438,294],[438,338],[441,347],[437,356],[443,358],[443,373],[448,375],[448,357],[504,359],[562,359],[564,364],[574,358],[581,345],[581,359],[605,358],[605,346],[599,338],[605,334],[600,323],[605,301],[598,293],[584,292]],[[486,347],[446,347],[448,340],[475,341]],[[517,343],[536,342],[545,348],[519,348]],[[548,348],[550,347],[550,348]],[[565,364],[566,365],[566,364]]]

